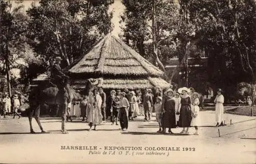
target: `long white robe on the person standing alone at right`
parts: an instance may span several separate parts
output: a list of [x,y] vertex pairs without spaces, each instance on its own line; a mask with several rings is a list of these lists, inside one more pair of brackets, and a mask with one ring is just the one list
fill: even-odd
[[216,122],[220,124],[221,122],[224,121],[224,119],[223,119],[223,116],[224,116],[224,106],[223,106],[224,96],[223,95],[217,95],[214,102],[216,103],[215,119],[216,119]]

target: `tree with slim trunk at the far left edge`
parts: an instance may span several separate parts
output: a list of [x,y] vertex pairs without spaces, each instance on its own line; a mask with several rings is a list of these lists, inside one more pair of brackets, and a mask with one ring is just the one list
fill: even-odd
[[[13,3],[16,3],[15,7]],[[26,40],[27,17],[20,11],[24,7],[21,3],[22,1],[0,0],[0,61],[3,65],[1,74],[7,78],[9,96],[12,90],[10,69],[22,52]]]

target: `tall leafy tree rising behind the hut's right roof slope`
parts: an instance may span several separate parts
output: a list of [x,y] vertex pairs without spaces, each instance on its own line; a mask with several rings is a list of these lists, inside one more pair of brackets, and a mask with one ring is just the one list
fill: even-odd
[[173,57],[166,52],[175,49],[173,25],[177,24],[179,14],[176,4],[171,0],[127,0],[123,1],[123,5],[126,7],[122,16],[122,21],[126,23],[123,28],[124,41],[135,45],[133,47],[143,57],[152,56],[154,64],[165,73],[162,61]]

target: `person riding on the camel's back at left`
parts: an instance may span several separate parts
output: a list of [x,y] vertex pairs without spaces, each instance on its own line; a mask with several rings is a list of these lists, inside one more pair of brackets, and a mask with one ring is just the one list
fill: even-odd
[[[66,80],[69,79],[69,77],[65,75],[61,70],[61,67],[60,67],[61,60],[62,60],[61,57],[56,57],[54,59],[55,63],[53,64],[51,69],[51,78],[53,79],[53,83],[57,85],[58,89],[61,88],[59,84],[61,84],[61,81],[63,79],[66,79]],[[69,93],[68,85],[65,85],[65,89]]]

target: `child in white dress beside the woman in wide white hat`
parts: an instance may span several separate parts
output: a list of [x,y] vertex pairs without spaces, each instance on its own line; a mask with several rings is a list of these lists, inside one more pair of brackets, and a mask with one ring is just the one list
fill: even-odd
[[193,109],[192,109],[192,112],[191,112],[191,115],[192,115],[192,121],[190,123],[190,126],[194,126],[195,129],[196,129],[196,132],[194,133],[194,135],[199,135],[198,133],[198,126],[200,124],[200,115],[199,115],[199,104],[200,104],[200,101],[199,101],[199,95],[197,95],[196,93],[193,93]]

